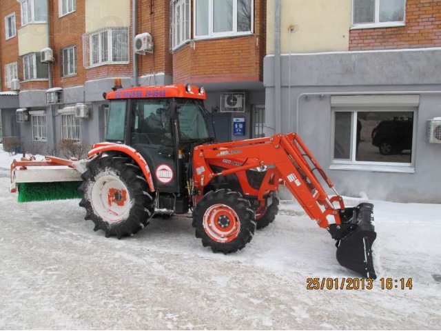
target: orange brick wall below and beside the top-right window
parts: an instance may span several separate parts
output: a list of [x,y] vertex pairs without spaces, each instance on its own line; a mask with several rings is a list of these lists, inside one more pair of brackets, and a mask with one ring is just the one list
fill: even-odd
[[441,0],[407,0],[406,26],[351,30],[349,50],[441,46]]

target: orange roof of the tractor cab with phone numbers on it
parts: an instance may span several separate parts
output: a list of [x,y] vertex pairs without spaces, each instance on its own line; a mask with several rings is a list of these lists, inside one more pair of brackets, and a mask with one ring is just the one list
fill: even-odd
[[141,86],[139,88],[125,88],[108,92],[105,96],[107,100],[114,99],[150,99],[150,98],[187,98],[187,99],[207,99],[205,90],[199,92],[197,86],[191,86],[192,92],[187,92],[185,85],[170,86]]

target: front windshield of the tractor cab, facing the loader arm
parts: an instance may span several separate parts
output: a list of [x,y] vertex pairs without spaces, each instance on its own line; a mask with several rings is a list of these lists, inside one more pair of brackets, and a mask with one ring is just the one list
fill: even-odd
[[203,108],[194,100],[178,99],[179,128],[181,140],[199,140],[209,138]]

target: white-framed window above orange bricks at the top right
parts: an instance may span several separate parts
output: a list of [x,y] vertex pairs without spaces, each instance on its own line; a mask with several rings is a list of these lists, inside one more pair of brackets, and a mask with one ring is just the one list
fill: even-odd
[[404,25],[406,0],[353,0],[353,26]]

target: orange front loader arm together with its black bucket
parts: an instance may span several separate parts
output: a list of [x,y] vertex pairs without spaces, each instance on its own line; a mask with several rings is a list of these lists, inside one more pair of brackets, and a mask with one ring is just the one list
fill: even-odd
[[[214,172],[211,165],[219,163],[228,165],[223,167],[227,169]],[[285,183],[307,215],[336,239],[338,262],[364,277],[376,278],[371,250],[376,239],[373,205],[361,203],[346,208],[334,183],[297,134],[197,146],[193,152],[193,168],[197,192],[194,204],[202,199],[204,188],[211,181],[229,174],[236,174],[245,196],[256,197],[258,201],[264,201],[265,194]],[[244,173],[253,168],[265,170],[257,190],[250,189],[243,180]],[[335,195],[328,196],[319,178],[334,190]]]

